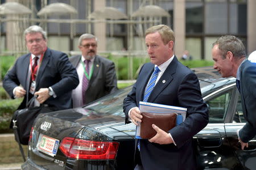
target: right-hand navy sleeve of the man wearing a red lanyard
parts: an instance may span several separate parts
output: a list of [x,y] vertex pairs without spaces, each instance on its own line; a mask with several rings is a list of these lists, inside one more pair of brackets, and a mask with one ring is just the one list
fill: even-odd
[[57,60],[57,69],[60,73],[61,80],[51,87],[56,96],[60,96],[75,89],[79,84],[79,77],[76,69],[70,63],[65,53],[61,53]]

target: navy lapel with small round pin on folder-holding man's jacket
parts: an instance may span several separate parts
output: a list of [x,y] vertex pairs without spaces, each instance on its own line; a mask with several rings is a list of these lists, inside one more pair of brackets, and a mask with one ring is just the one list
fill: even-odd
[[174,77],[172,76],[176,72],[177,58],[174,57],[172,62],[166,68],[161,78],[158,80],[154,89],[152,90],[148,102],[154,102],[158,95],[172,82]]

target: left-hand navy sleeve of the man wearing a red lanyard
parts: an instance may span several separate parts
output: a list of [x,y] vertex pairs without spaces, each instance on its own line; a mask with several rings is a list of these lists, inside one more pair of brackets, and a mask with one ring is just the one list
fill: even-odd
[[16,65],[17,61],[15,62],[13,68],[10,69],[3,78],[3,88],[5,88],[6,92],[9,94],[11,98],[14,98],[13,89],[16,86],[20,85],[16,74]]

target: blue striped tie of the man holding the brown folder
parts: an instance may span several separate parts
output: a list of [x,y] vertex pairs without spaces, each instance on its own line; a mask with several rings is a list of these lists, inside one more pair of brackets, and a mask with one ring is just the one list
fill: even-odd
[[[144,94],[143,102],[147,102],[147,99],[150,96],[150,93],[154,89],[156,78],[158,78],[158,72],[160,72],[160,69],[158,67],[155,67],[155,71],[153,72],[153,74],[150,78],[150,81],[147,84],[147,88],[146,88],[146,91],[145,91],[145,94]],[[140,146],[141,144],[140,143],[141,143],[141,141],[140,141],[140,139],[138,139],[137,147],[138,147],[139,151],[141,150],[141,146]]]

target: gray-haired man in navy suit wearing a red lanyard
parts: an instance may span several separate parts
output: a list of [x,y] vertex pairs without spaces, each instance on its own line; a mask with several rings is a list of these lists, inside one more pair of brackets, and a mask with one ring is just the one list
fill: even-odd
[[34,95],[38,96],[35,106],[44,103],[52,110],[71,108],[71,92],[79,79],[68,56],[47,48],[46,32],[39,26],[28,27],[24,38],[30,53],[16,60],[3,79],[3,88],[11,98],[24,97],[18,109]]

